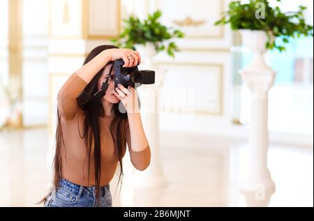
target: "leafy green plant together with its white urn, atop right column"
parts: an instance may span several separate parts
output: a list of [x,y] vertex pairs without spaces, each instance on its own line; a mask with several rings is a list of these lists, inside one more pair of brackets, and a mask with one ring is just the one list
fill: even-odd
[[[271,70],[263,57],[267,49],[281,52],[290,37],[313,36],[313,26],[306,24],[304,10],[306,7],[299,6],[295,12],[283,13],[278,6],[269,6],[267,0],[231,1],[229,10],[222,13],[215,25],[230,24],[232,30],[240,31],[244,45],[254,54],[253,61],[245,70]],[[283,38],[283,43],[276,43],[278,37]]]

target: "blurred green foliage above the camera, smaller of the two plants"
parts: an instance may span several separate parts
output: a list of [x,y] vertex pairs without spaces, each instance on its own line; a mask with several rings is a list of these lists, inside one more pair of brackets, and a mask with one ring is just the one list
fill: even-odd
[[161,24],[159,21],[161,15],[160,10],[157,10],[144,20],[134,16],[128,17],[124,20],[124,30],[119,38],[112,39],[112,42],[119,47],[144,50],[144,54],[150,58],[162,51],[174,57],[174,52],[178,52],[179,48],[170,40],[183,38],[184,33]]

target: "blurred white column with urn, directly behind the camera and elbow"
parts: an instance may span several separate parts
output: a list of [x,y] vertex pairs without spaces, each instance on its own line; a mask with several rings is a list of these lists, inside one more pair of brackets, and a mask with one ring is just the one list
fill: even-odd
[[158,99],[159,91],[163,85],[165,70],[154,65],[152,56],[154,56],[151,45],[146,47],[137,47],[142,56],[140,70],[154,70],[155,84],[143,84],[137,91],[141,100],[141,117],[145,135],[149,140],[151,148],[151,163],[147,169],[142,172],[135,171],[133,187],[135,188],[163,188],[166,186],[165,176],[160,165],[159,155],[159,108]]

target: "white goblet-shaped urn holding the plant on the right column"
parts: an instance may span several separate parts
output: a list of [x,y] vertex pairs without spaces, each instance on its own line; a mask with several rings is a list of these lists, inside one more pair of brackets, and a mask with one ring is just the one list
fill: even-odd
[[[267,33],[260,30],[239,30],[242,36],[244,46],[253,52],[253,61],[244,68],[244,70],[271,70],[264,61],[264,53],[267,52],[266,43],[268,40]],[[271,38],[274,40],[274,38]]]

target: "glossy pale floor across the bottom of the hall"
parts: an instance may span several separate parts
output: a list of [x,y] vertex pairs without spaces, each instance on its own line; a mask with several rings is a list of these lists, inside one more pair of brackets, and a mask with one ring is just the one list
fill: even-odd
[[[114,206],[255,206],[239,191],[245,141],[176,136],[162,133],[160,141],[167,186],[133,189],[126,169]],[[175,144],[169,142],[173,139]],[[49,143],[44,128],[0,132],[0,206],[36,206],[50,183]],[[313,147],[270,145],[268,165],[276,183],[269,206],[313,206]],[[112,195],[115,189],[114,178]]]

